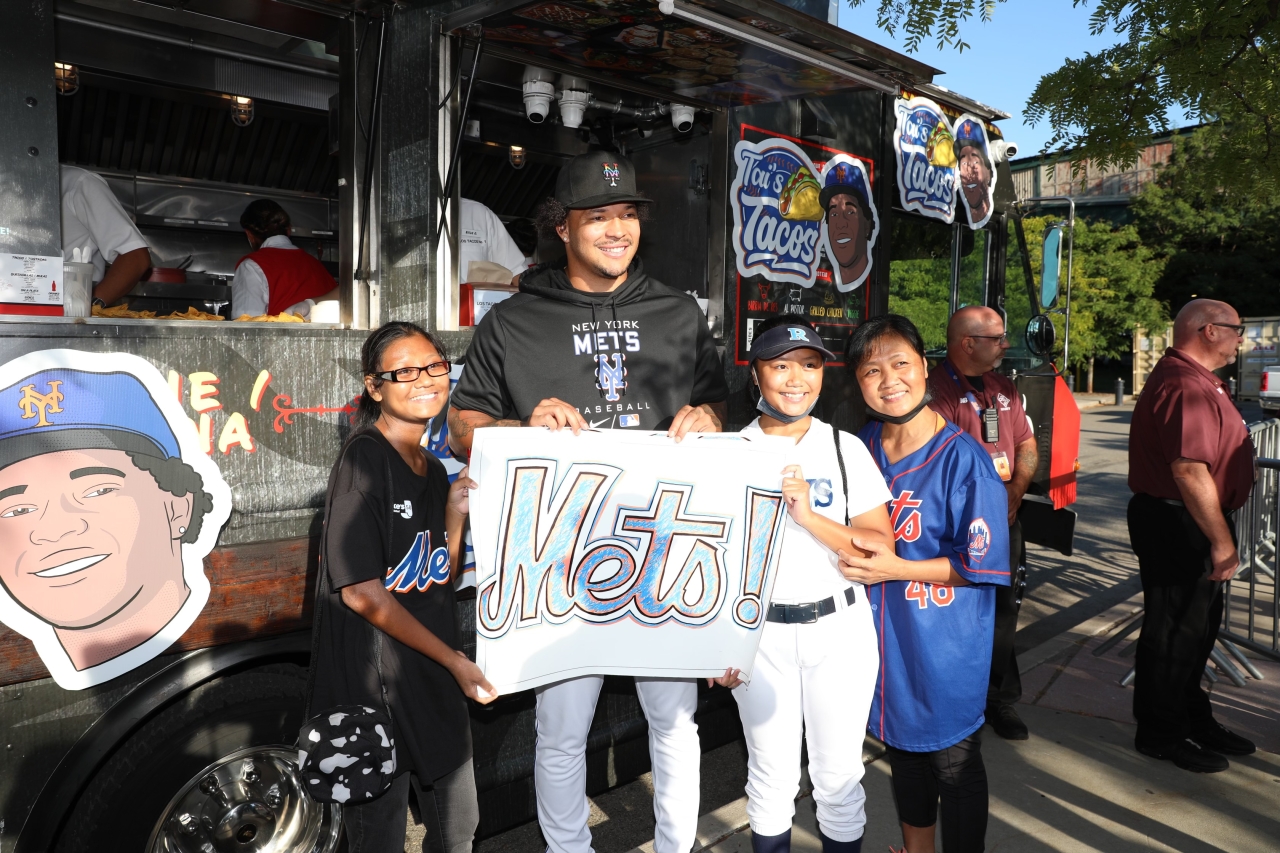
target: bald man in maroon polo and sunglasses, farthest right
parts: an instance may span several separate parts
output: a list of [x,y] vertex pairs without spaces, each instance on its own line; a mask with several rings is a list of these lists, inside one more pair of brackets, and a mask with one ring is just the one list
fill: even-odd
[[1253,488],[1249,430],[1211,371],[1235,362],[1240,316],[1193,300],[1151,371],[1129,428],[1129,539],[1146,613],[1133,716],[1138,752],[1217,772],[1253,744],[1213,720],[1201,678],[1222,621],[1222,581],[1240,562],[1229,512]]

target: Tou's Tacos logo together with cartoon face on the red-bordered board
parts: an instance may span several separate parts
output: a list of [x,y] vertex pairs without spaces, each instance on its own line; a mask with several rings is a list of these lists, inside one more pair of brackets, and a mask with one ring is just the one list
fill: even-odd
[[737,174],[730,192],[740,275],[813,287],[824,250],[837,289],[852,291],[867,280],[879,216],[865,163],[837,154],[819,168],[782,138],[744,140],[733,160]]

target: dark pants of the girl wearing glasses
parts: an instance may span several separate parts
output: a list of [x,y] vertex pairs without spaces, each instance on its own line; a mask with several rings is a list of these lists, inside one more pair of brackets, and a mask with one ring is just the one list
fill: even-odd
[[390,789],[362,806],[343,806],[342,829],[348,853],[403,853],[408,792],[426,825],[422,853],[471,853],[480,825],[476,777],[471,761],[422,786],[413,774],[402,774]]

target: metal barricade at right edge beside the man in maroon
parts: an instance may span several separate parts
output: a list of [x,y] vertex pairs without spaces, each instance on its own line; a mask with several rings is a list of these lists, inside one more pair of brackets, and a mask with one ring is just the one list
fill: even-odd
[[1219,637],[1231,657],[1253,675],[1254,667],[1236,647],[1280,661],[1280,420],[1251,424],[1249,437],[1256,479],[1248,502],[1235,511],[1240,570],[1226,584]]

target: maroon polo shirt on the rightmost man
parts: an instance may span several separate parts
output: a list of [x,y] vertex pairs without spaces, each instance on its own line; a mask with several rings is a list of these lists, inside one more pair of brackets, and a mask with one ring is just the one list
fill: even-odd
[[1253,488],[1253,442],[1226,383],[1178,350],[1151,371],[1129,426],[1129,488],[1181,501],[1170,467],[1190,459],[1208,465],[1225,510],[1244,506]]

